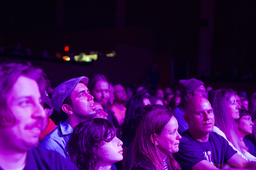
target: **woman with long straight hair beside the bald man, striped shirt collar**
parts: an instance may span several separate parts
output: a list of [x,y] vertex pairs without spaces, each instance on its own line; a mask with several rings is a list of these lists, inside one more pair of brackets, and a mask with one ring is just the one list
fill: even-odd
[[132,149],[130,170],[181,169],[172,153],[179,150],[178,122],[167,109],[154,109],[142,119]]

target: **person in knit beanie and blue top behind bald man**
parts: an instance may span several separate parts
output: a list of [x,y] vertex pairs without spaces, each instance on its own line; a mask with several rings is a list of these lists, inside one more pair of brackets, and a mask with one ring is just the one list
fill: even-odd
[[[180,80],[179,83],[183,86],[184,88],[184,96],[183,96],[183,101],[187,101],[189,98],[194,97],[194,96],[202,96],[206,97],[207,96],[207,91],[204,86],[204,82],[197,80],[195,78],[188,79],[188,80]],[[178,124],[179,124],[179,133],[182,134],[185,130],[188,129],[188,124],[184,120],[184,109],[182,105],[177,107],[173,111],[173,115],[176,117]]]

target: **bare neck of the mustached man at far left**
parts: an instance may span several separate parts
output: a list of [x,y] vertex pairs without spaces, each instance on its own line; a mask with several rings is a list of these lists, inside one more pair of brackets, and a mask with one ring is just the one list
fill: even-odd
[[18,169],[26,164],[27,151],[17,152],[2,145],[0,147],[0,167],[3,169]]

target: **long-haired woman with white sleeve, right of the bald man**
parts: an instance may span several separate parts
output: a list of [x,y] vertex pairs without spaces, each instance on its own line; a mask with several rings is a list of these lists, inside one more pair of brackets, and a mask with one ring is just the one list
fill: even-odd
[[210,97],[210,103],[215,115],[215,126],[213,132],[224,137],[229,145],[237,153],[248,161],[256,161],[256,158],[242,148],[238,140],[235,120],[239,119],[240,106],[235,97],[236,92],[232,89],[215,90]]

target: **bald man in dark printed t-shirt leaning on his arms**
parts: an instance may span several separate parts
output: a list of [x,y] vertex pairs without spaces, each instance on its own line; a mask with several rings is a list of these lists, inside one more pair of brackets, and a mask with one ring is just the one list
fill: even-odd
[[[188,129],[183,133],[179,151],[174,153],[183,169],[255,169],[256,162],[248,162],[233,150],[228,141],[215,132],[214,112],[210,102],[201,96],[188,99],[184,107]],[[228,120],[227,120],[228,121]]]

